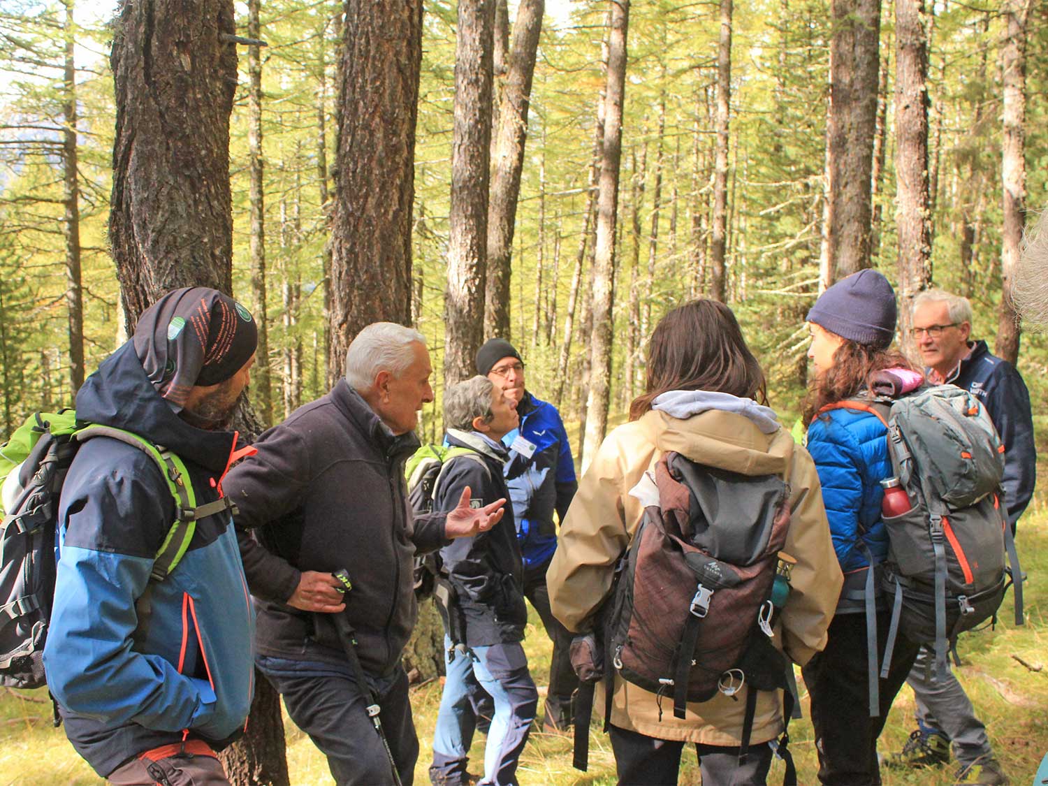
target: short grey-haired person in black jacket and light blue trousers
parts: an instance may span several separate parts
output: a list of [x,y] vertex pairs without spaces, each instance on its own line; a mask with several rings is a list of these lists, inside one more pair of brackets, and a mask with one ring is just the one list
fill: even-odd
[[[485,376],[444,393],[446,460],[433,490],[433,509],[445,510],[468,487],[482,504],[509,492],[502,477],[508,456],[502,437],[517,428],[517,403]],[[456,450],[457,449],[457,450]],[[521,640],[527,623],[523,569],[512,515],[486,532],[440,550],[452,588],[445,618],[444,682],[433,739],[430,780],[439,786],[472,783],[467,752],[477,717],[471,687],[479,682],[495,700],[481,784],[517,783],[517,764],[534,720],[539,694]]]

